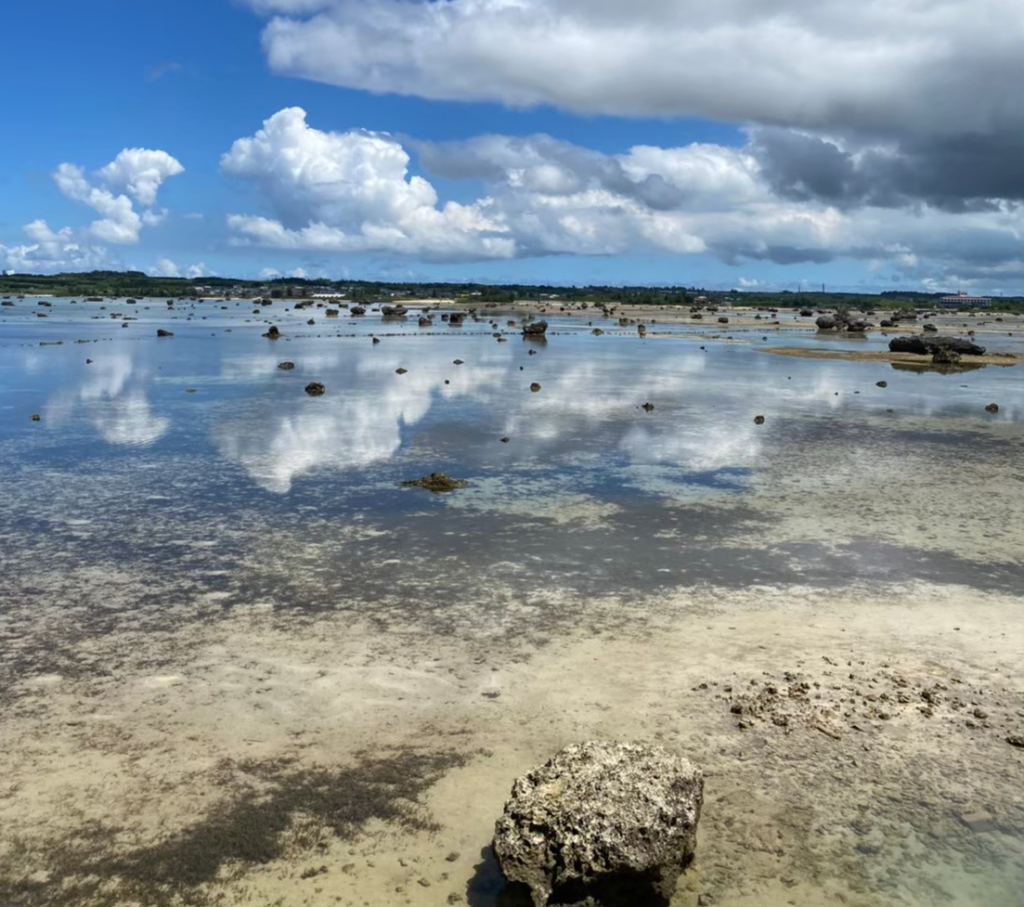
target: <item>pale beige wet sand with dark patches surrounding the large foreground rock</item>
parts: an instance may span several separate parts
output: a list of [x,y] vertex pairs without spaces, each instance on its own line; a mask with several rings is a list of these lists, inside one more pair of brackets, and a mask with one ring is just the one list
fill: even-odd
[[[1016,903],[1015,597],[709,589],[580,622],[538,648],[254,605],[103,639],[109,676],[40,676],[7,705],[0,898],[494,904],[511,781],[610,737],[708,774],[677,904]],[[796,711],[739,728],[739,692],[785,696],[786,672],[828,733]]]

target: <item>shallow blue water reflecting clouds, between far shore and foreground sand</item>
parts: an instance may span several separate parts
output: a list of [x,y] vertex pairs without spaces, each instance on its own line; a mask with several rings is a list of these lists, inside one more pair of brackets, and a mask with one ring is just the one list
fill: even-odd
[[[906,590],[1002,601],[1024,588],[1020,365],[940,375],[758,351],[884,347],[810,328],[656,325],[671,336],[645,340],[553,316],[535,343],[485,311],[419,328],[282,301],[258,315],[233,301],[36,302],[0,310],[8,701],[31,700],[34,678],[154,675],[180,657],[175,634],[254,608],[283,640],[350,615],[415,634],[424,658],[467,641],[529,658],[563,639],[642,637],[644,615],[671,617],[681,596],[680,614],[730,614],[729,596],[748,608],[752,590],[772,591],[755,605],[770,611],[806,590],[895,608]],[[260,336],[271,322],[279,340]],[[326,394],[306,395],[310,381]],[[435,471],[469,484],[399,486]],[[161,635],[167,648],[151,645]],[[981,859],[1001,898],[1019,863]],[[858,883],[864,903],[892,894]],[[929,903],[937,889],[915,884],[900,897]]]

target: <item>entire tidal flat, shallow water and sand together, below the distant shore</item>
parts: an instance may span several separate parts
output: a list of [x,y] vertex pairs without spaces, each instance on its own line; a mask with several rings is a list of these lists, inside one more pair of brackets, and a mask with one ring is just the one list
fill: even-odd
[[1021,318],[942,373],[792,313],[39,301],[0,904],[518,903],[494,822],[593,738],[706,772],[677,907],[1020,904]]

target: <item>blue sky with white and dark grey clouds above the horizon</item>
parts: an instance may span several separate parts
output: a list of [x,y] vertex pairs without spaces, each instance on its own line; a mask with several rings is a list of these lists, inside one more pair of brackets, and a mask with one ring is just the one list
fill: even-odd
[[1019,0],[11,0],[0,268],[1024,293]]

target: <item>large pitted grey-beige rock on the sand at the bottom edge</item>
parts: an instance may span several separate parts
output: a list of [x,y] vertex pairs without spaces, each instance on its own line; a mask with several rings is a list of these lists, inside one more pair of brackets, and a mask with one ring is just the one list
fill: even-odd
[[660,747],[590,741],[523,775],[495,826],[534,903],[668,904],[696,848],[703,776]]

